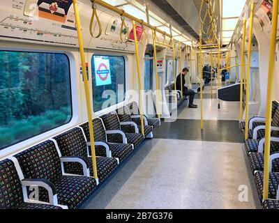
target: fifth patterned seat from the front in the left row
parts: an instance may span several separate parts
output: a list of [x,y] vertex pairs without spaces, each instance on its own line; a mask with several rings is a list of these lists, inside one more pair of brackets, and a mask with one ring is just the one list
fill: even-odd
[[[126,133],[121,130],[118,116],[116,112],[111,112],[100,116],[105,125],[105,130],[117,130],[125,134],[128,144],[133,144],[134,148],[137,148],[144,141],[144,136],[140,133]],[[121,134],[107,134],[107,141],[112,143],[123,143],[123,136]]]

